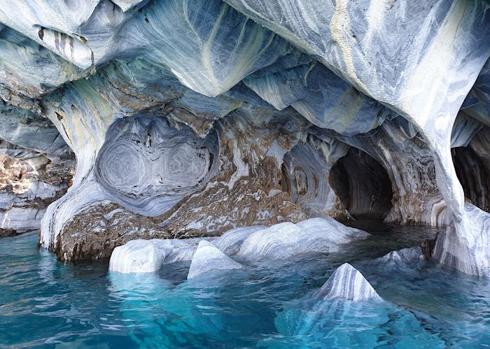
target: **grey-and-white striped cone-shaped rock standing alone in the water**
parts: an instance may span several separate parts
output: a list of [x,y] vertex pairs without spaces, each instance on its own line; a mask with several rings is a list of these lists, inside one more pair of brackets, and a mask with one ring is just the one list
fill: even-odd
[[323,299],[382,300],[363,274],[349,263],[342,264],[332,273],[318,295]]

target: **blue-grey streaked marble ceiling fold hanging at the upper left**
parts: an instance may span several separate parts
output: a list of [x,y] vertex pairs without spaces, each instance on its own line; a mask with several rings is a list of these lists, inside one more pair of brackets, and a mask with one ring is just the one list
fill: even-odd
[[219,0],[3,5],[1,23],[80,69],[144,57],[168,67],[183,85],[212,97],[290,49],[287,41]]

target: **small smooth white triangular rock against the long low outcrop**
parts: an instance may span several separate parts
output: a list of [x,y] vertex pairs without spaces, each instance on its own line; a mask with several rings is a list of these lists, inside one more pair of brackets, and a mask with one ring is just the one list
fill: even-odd
[[187,278],[195,278],[214,270],[241,269],[241,264],[225,255],[208,241],[200,241],[194,254]]

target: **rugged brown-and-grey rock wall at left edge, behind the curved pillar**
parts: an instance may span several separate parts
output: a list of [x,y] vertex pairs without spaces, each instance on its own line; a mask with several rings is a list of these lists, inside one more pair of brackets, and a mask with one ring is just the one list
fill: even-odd
[[49,120],[0,104],[0,236],[38,230],[73,177],[73,152]]

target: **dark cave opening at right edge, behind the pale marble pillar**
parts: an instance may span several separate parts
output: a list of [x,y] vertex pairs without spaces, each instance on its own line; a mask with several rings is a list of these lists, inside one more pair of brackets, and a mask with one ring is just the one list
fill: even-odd
[[465,198],[490,212],[490,163],[479,157],[470,146],[452,148],[451,154]]

